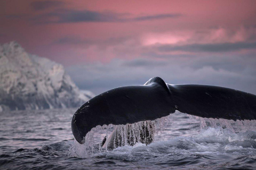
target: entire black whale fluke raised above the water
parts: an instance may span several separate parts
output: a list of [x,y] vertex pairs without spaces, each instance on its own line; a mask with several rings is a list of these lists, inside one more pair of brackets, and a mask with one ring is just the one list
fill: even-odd
[[95,96],[78,108],[71,129],[82,144],[97,125],[153,121],[175,110],[207,118],[255,120],[256,96],[217,86],[166,84],[155,77],[141,86],[118,87]]

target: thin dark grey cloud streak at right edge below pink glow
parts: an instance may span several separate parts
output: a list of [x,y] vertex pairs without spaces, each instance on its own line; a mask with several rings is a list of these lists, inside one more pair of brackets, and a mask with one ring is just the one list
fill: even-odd
[[256,42],[253,43],[220,43],[220,44],[190,44],[183,46],[162,45],[158,49],[161,52],[170,52],[175,50],[186,52],[231,52],[241,49],[256,48]]

